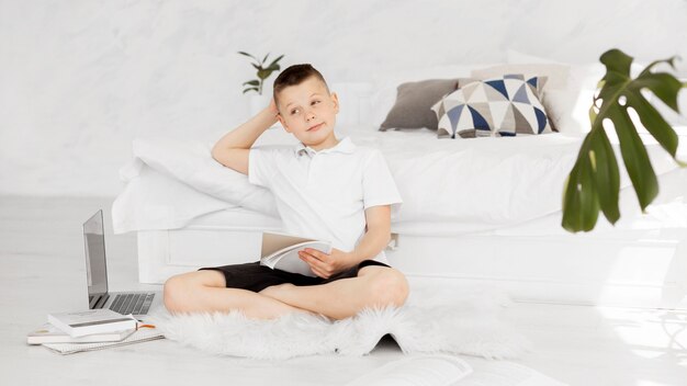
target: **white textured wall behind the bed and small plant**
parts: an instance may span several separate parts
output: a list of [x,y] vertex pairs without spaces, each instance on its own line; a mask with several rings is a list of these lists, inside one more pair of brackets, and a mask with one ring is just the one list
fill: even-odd
[[687,59],[685,42],[685,0],[0,0],[0,194],[114,196],[135,136],[216,138],[247,118],[237,50],[339,82],[507,48]]

